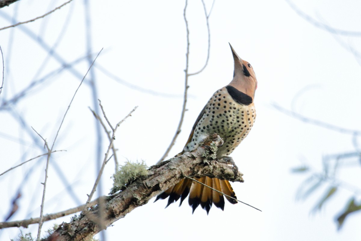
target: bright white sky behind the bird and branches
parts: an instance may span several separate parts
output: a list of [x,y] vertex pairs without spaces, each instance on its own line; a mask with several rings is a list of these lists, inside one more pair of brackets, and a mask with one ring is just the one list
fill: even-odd
[[[0,9],[0,27],[11,24],[4,14],[12,16],[15,9],[18,22],[40,16],[60,4],[62,1],[21,0]],[[359,1],[295,1],[295,4],[335,28],[361,31]],[[206,1],[206,5],[209,10],[212,1]],[[118,130],[115,143],[118,158],[122,162],[142,159],[153,165],[168,147],[181,113],[186,51],[184,1],[91,1],[90,7],[92,51],[97,53],[104,48],[96,65],[133,85],[173,95],[156,96],[131,89],[95,68],[99,99],[112,123],[139,106]],[[67,16],[69,22],[65,23]],[[207,49],[200,1],[189,1],[187,18],[190,72],[195,72],[203,66]],[[85,56],[83,1],[74,0],[43,20],[23,26],[41,35],[49,46],[60,36],[56,52],[66,61]],[[216,1],[209,26],[209,64],[201,74],[189,79],[188,111],[169,157],[182,150],[194,120],[213,92],[232,79],[230,42],[238,55],[252,64],[258,80],[255,125],[231,155],[244,173],[245,182],[232,186],[240,200],[262,212],[226,203],[224,212],[213,207],[207,216],[199,207],[192,215],[187,202],[180,208],[176,203],[166,209],[166,201],[149,202],[109,227],[107,240],[360,240],[360,215],[350,216],[340,232],[334,222],[351,197],[350,192],[340,191],[320,212],[311,213],[326,189],[320,189],[304,202],[296,201],[297,188],[308,175],[290,171],[302,162],[321,170],[322,156],[354,151],[352,137],[305,124],[272,107],[277,103],[313,119],[359,130],[361,68],[355,57],[333,35],[298,16],[286,1]],[[341,36],[341,40],[361,50],[358,38]],[[61,66],[52,57],[46,59],[44,49],[24,34],[20,26],[0,31],[0,44],[9,68],[1,102],[21,91],[33,78],[39,79]],[[36,74],[44,60],[44,69]],[[82,61],[75,68],[85,74],[88,64]],[[16,111],[50,142],[78,85],[77,78],[64,72],[32,90],[19,102]],[[93,106],[91,90],[84,84],[57,141],[56,149],[67,151],[54,154],[52,160],[65,173],[82,202],[95,180],[94,118],[88,106]],[[0,172],[45,152],[33,148],[29,135],[4,111],[0,112],[0,126]],[[25,142],[20,143],[18,138]],[[1,217],[7,214],[22,177],[32,167],[35,171],[23,184],[20,209],[12,220],[39,215],[45,159],[0,177]],[[70,197],[54,168],[52,165],[49,170],[45,213],[79,204]],[[111,188],[109,177],[113,170],[114,164],[109,162],[103,174],[103,194]],[[350,169],[339,177],[359,185],[357,174]],[[46,226],[68,220],[69,217],[50,221]],[[25,232],[35,235],[36,229],[36,225],[31,225]],[[0,231],[0,238],[8,240],[16,237],[16,233],[16,229]]]

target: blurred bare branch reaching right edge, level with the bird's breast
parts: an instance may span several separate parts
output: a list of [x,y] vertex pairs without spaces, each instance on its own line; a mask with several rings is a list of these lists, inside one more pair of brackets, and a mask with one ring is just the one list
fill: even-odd
[[313,124],[313,125],[317,125],[317,126],[320,126],[322,128],[326,128],[326,129],[329,129],[329,130],[334,130],[336,132],[340,132],[340,133],[343,133],[343,134],[351,134],[351,135],[361,135],[361,131],[360,130],[352,130],[352,129],[346,129],[346,128],[342,128],[342,127],[339,127],[339,126],[336,126],[336,125],[331,125],[329,123],[326,123],[326,122],[323,122],[323,121],[319,121],[319,120],[315,120],[315,119],[311,119],[311,118],[308,118],[306,116],[303,116],[303,115],[300,115],[299,113],[296,113],[296,112],[293,112],[293,111],[290,111],[286,108],[283,108],[281,106],[279,106],[278,104],[272,104],[272,106],[274,108],[276,108],[278,111],[288,115],[288,116],[292,116],[300,121],[303,121],[303,122],[306,122],[306,123],[310,123],[310,124]]

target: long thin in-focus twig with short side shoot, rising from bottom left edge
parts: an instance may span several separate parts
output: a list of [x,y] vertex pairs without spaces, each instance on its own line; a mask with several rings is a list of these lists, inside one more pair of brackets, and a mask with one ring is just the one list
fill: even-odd
[[60,132],[61,126],[62,126],[62,124],[63,124],[63,122],[64,122],[65,116],[66,116],[66,114],[67,114],[68,111],[69,111],[69,108],[70,108],[70,106],[71,106],[71,103],[73,103],[73,100],[74,100],[74,98],[75,98],[75,95],[77,94],[77,92],[78,92],[80,86],[82,85],[85,77],[87,76],[89,70],[90,70],[91,67],[93,66],[95,60],[96,60],[97,57],[100,55],[100,52],[101,52],[102,50],[103,50],[103,48],[99,51],[98,55],[95,57],[95,59],[94,59],[94,61],[92,62],[92,64],[89,66],[88,71],[87,71],[86,74],[84,75],[84,77],[83,77],[82,81],[80,82],[78,88],[75,90],[74,95],[73,95],[73,98],[71,98],[71,100],[70,100],[68,109],[66,109],[65,114],[64,114],[64,116],[63,116],[63,119],[61,120],[60,126],[59,126],[58,131],[57,131],[57,133],[56,133],[56,135],[55,135],[55,138],[54,138],[54,141],[53,141],[53,144],[52,144],[51,148],[49,148],[47,141],[46,141],[38,132],[36,132],[36,131],[34,130],[34,128],[33,128],[33,130],[43,139],[43,141],[45,142],[45,146],[46,146],[47,149],[48,149],[48,158],[47,158],[47,164],[46,164],[46,168],[45,168],[45,180],[44,180],[44,182],[43,182],[43,185],[44,185],[43,197],[42,197],[42,204],[40,205],[40,218],[39,218],[39,228],[38,228],[38,237],[37,237],[37,240],[40,239],[40,233],[41,233],[42,226],[43,226],[43,210],[44,210],[44,202],[45,202],[45,190],[46,190],[46,183],[47,183],[47,179],[48,179],[48,167],[49,167],[49,160],[50,160],[51,152],[52,152],[53,147],[54,147],[54,145],[55,145],[55,142],[56,142],[56,139],[57,139],[58,134],[59,134],[59,132]]

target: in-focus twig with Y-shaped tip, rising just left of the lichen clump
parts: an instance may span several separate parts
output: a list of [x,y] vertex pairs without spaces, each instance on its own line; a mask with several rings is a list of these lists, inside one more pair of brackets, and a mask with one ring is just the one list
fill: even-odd
[[[102,111],[103,111],[104,118],[107,120],[108,118],[105,116],[105,111],[104,111],[104,109],[103,109],[103,106],[101,106],[100,100],[99,100],[99,105],[100,105],[100,108],[101,108]],[[88,200],[87,200],[87,202],[85,203],[84,211],[89,207],[90,200],[92,199],[92,197],[93,197],[93,195],[94,195],[94,193],[95,193],[96,187],[97,187],[98,184],[99,184],[100,177],[101,177],[101,175],[103,174],[103,170],[104,170],[105,164],[106,164],[106,162],[107,162],[107,160],[108,160],[109,151],[110,151],[110,149],[112,149],[112,146],[113,146],[113,142],[114,142],[114,139],[115,139],[115,133],[116,133],[116,131],[117,131],[118,126],[119,126],[120,124],[122,124],[122,122],[125,121],[125,119],[127,119],[129,116],[131,116],[131,114],[136,110],[136,108],[138,108],[138,106],[134,107],[134,108],[129,112],[129,114],[128,114],[126,117],[124,117],[123,120],[119,121],[119,122],[117,123],[117,125],[115,126],[115,128],[113,128],[113,126],[110,125],[110,123],[109,123],[110,128],[112,128],[112,130],[113,130],[112,138],[111,138],[111,140],[110,140],[110,143],[109,143],[109,146],[108,146],[108,150],[107,150],[106,153],[105,153],[104,160],[103,160],[103,164],[102,164],[101,167],[100,167],[100,171],[99,171],[98,176],[97,176],[97,178],[96,178],[96,180],[95,180],[95,182],[94,182],[93,188],[92,188],[90,194],[88,195]]]

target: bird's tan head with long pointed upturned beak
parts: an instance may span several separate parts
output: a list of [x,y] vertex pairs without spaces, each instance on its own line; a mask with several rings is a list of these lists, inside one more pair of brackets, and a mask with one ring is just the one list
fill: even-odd
[[231,44],[229,44],[229,46],[231,47],[234,60],[233,79],[229,85],[242,91],[244,94],[251,96],[253,99],[257,89],[257,79],[252,65],[241,59],[236,51],[234,51]]

